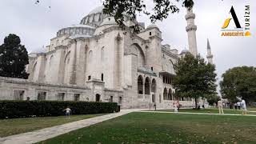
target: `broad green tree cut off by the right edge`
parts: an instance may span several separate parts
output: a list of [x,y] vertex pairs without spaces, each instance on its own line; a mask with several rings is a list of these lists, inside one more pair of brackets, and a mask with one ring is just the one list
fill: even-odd
[[243,98],[246,102],[256,100],[256,67],[242,66],[226,70],[220,82],[222,98],[230,102],[238,102]]

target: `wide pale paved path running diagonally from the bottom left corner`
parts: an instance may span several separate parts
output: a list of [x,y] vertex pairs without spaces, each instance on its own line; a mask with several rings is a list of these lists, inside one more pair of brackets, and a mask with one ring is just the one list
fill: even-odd
[[66,134],[72,130],[78,130],[86,126],[94,125],[98,122],[103,122],[111,118],[116,118],[130,112],[138,111],[142,109],[131,109],[131,110],[121,110],[119,113],[106,114],[99,117],[87,118],[81,121],[70,122],[60,126],[53,126],[45,128],[42,130],[35,130],[28,133],[10,135],[5,138],[0,138],[0,143],[2,144],[25,144],[25,143],[35,143],[41,142],[49,138],[54,138],[61,134]]

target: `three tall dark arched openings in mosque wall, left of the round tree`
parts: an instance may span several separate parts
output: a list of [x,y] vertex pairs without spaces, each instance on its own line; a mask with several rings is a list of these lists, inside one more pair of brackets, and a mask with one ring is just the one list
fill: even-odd
[[[145,92],[144,92],[145,90]],[[143,82],[142,75],[138,76],[138,94],[150,94],[151,92],[155,92],[156,90],[156,81],[155,79],[151,82],[151,88],[150,88],[150,78],[146,77],[145,83]]]

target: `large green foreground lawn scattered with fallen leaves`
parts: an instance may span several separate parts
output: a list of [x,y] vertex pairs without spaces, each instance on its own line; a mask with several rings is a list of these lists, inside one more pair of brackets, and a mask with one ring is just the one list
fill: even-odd
[[256,117],[130,113],[41,143],[255,143]]

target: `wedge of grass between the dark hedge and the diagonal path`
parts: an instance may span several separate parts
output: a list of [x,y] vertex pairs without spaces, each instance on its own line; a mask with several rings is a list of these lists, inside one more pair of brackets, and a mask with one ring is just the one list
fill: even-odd
[[50,126],[62,125],[86,118],[93,118],[103,114],[86,114],[59,117],[38,117],[38,118],[13,118],[0,120],[0,137],[12,134],[21,134],[33,130],[39,130]]

